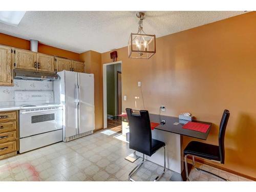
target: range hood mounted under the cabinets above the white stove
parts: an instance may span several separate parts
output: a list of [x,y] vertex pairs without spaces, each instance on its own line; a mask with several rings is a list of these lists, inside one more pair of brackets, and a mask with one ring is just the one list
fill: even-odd
[[46,72],[39,72],[39,71],[27,71],[27,70],[20,70],[14,69],[13,73],[14,79],[23,79],[23,80],[58,80],[59,76],[55,73],[46,73]]

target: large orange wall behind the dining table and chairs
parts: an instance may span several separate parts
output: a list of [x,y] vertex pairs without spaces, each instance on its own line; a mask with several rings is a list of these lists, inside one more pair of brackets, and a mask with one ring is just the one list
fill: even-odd
[[[135,96],[141,98],[141,81],[146,110],[158,114],[165,105],[165,115],[190,112],[212,122],[206,142],[218,144],[219,123],[228,109],[226,160],[221,166],[256,178],[255,20],[256,12],[250,12],[157,38],[157,53],[149,60],[129,59],[127,47],[117,49],[122,93],[127,95],[123,112],[135,108]],[[103,53],[101,61],[111,62],[110,52]],[[184,137],[183,146],[190,140],[195,139]]]

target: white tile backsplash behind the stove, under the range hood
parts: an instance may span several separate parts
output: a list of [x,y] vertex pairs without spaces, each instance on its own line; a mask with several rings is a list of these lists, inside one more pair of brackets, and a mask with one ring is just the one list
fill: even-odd
[[0,86],[0,102],[14,101],[14,91],[53,91],[52,81],[13,80],[13,87]]

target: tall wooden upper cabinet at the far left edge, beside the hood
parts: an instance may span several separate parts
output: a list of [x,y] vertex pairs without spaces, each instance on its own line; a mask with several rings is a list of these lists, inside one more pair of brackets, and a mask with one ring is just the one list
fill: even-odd
[[0,86],[12,86],[12,49],[0,46]]

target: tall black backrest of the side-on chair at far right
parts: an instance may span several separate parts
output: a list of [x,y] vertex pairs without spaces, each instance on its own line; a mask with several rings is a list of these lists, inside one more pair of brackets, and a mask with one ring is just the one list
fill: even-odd
[[220,123],[220,131],[219,131],[219,152],[220,152],[220,162],[224,164],[225,161],[225,146],[224,146],[224,138],[226,132],[226,126],[229,118],[229,111],[224,110],[221,123]]

